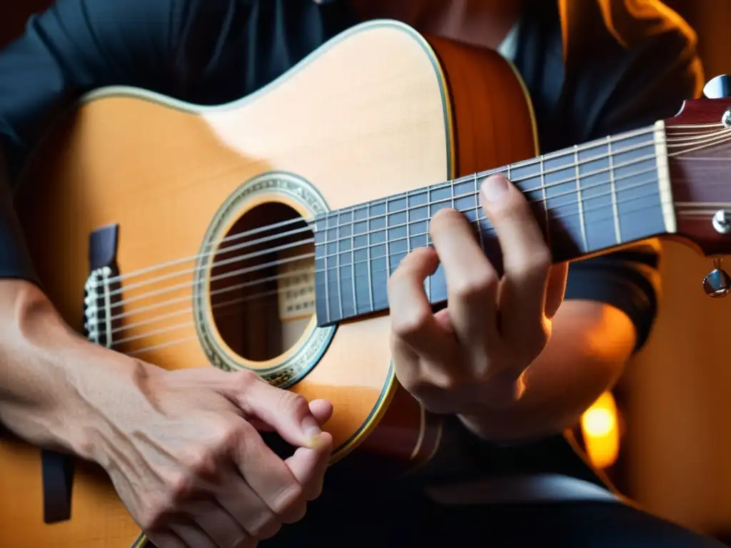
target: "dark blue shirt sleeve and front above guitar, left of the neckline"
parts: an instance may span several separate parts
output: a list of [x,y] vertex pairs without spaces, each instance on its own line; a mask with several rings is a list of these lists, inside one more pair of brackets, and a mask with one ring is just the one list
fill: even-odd
[[[250,94],[327,38],[348,14],[311,0],[56,0],[0,52],[0,147],[11,180],[54,116],[107,85],[197,104]],[[37,282],[7,189],[0,278]]]

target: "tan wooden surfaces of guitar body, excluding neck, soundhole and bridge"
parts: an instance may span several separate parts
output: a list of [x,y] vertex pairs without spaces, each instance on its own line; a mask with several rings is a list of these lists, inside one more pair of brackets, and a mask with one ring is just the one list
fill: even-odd
[[[370,25],[260,94],[217,110],[173,108],[130,92],[83,104],[34,156],[18,201],[39,275],[64,318],[80,330],[88,234],[106,224],[120,224],[124,274],[197,254],[219,205],[262,172],[297,173],[331,208],[341,208],[533,156],[531,113],[510,67],[495,53],[444,40],[433,45],[451,96],[443,95],[431,50],[414,34]],[[155,275],[174,272],[170,267]],[[189,283],[192,274],[175,281]],[[127,289],[124,297],[167,283]],[[191,290],[175,289],[165,298],[189,303]],[[129,313],[129,343],[120,351],[183,340],[137,355],[163,368],[208,365],[194,327],[181,316],[159,324],[169,329],[150,332],[144,322],[153,312]],[[395,382],[388,330],[387,316],[342,324],[327,354],[293,388],[333,402],[327,430],[336,445],[368,424],[384,387]],[[419,463],[436,448],[438,421],[394,389],[390,411],[372,435],[358,440],[358,453]],[[137,536],[94,467],[77,470],[72,519],[53,526],[42,522],[37,449],[0,440],[0,471],[1,546],[121,548]]]

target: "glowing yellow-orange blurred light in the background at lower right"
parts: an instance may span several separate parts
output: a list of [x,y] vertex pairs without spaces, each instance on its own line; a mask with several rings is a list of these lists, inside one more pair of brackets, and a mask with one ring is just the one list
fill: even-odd
[[619,454],[619,419],[611,392],[605,392],[581,416],[586,452],[596,468],[608,468]]

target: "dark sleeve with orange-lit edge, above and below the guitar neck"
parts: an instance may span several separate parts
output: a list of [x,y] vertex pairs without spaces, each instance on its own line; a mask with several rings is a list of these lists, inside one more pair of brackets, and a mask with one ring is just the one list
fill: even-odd
[[[588,17],[598,4],[583,3]],[[630,14],[623,4],[614,2],[612,12],[594,14],[594,28],[580,18],[569,23],[569,32],[584,34],[569,43],[565,99],[571,104],[564,105],[569,119],[584,121],[567,131],[577,142],[671,118],[684,100],[700,94],[702,68],[692,30],[651,6],[644,14]],[[602,36],[606,39],[598,42]],[[576,262],[566,297],[599,300],[624,311],[635,324],[635,350],[640,349],[657,314],[660,249],[659,242],[648,241]]]

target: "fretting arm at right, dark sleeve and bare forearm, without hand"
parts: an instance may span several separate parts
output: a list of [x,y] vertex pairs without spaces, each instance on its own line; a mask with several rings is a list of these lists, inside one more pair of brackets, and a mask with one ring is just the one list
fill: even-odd
[[[575,128],[585,124],[577,130],[578,140],[670,118],[684,99],[700,92],[702,69],[692,31],[653,12],[656,7],[648,7],[646,19],[640,19],[622,12],[619,4],[613,4],[613,31],[624,31],[618,39],[629,50],[609,45],[609,58],[601,64],[582,57],[579,47],[577,57],[569,58],[567,89],[572,91],[564,94],[564,116],[579,121]],[[597,96],[604,101],[586,102]],[[575,425],[596,397],[613,387],[650,334],[657,313],[659,252],[659,243],[645,242],[572,264],[566,300],[548,345],[526,371],[523,397],[507,407],[488,405],[463,422],[477,435],[499,441],[529,440]]]

